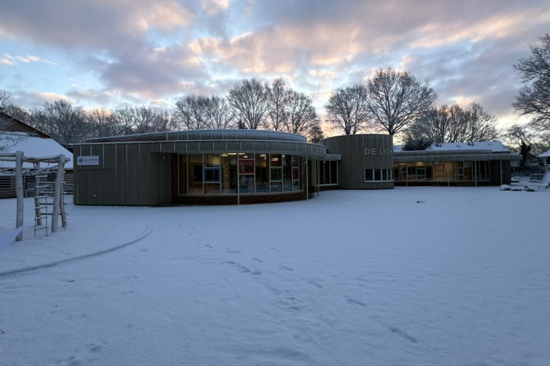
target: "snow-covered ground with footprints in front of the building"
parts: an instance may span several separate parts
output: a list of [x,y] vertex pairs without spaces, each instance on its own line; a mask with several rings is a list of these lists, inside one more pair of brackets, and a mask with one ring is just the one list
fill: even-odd
[[[549,207],[498,187],[68,205],[67,230],[0,248],[0,364],[550,365]],[[1,200],[0,236],[14,222]]]

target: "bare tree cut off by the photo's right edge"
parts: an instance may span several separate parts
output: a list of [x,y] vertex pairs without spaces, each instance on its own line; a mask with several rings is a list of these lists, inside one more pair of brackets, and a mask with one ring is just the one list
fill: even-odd
[[550,129],[550,34],[529,48],[531,56],[514,65],[525,86],[511,105],[520,115],[532,117],[531,126],[542,132]]

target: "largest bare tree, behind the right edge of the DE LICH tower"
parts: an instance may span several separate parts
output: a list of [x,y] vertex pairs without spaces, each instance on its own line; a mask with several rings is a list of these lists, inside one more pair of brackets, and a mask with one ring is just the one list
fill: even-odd
[[407,71],[379,69],[367,83],[367,104],[378,129],[395,135],[432,108],[437,94]]

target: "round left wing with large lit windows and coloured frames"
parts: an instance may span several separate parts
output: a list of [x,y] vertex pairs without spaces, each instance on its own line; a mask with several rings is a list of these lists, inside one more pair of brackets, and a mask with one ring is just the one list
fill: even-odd
[[306,199],[327,148],[271,130],[184,130],[74,145],[77,205]]

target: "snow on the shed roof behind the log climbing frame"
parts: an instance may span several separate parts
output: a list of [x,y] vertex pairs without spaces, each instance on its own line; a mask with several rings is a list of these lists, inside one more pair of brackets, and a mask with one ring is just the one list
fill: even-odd
[[[73,154],[54,139],[42,138],[36,135],[28,135],[26,133],[11,133],[0,132],[0,148],[8,146],[3,152],[23,151],[25,156],[29,157],[52,157],[52,155],[65,155],[66,158],[72,160]],[[50,163],[50,167],[56,165]],[[47,163],[42,163],[41,167],[45,168]],[[14,168],[14,161],[0,161],[0,168]],[[23,163],[23,168],[33,168],[32,163]],[[67,161],[65,169],[72,169],[73,162]]]

